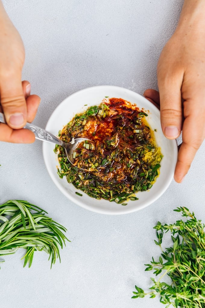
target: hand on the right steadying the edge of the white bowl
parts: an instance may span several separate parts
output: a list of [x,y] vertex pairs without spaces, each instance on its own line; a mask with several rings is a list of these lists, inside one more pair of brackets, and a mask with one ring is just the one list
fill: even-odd
[[204,11],[204,1],[184,1],[179,25],[158,62],[160,97],[156,91],[144,94],[160,101],[161,126],[167,138],[177,138],[182,130],[183,142],[174,174],[178,183],[187,174],[205,138]]

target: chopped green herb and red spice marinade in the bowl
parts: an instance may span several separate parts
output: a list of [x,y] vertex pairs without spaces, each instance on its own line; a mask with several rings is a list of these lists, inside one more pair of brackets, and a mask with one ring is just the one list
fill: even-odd
[[146,116],[119,98],[75,115],[59,137],[65,142],[73,137],[94,141],[81,143],[73,152],[74,165],[87,171],[70,164],[64,148],[56,146],[61,166],[58,175],[96,199],[122,205],[129,199],[137,200],[135,193],[150,189],[156,181],[163,157]]

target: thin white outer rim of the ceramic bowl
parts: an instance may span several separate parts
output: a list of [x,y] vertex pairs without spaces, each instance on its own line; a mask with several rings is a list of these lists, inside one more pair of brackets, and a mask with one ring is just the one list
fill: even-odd
[[[72,99],[73,96],[75,95],[78,95],[79,93],[83,93],[83,92],[87,92],[87,91],[92,91],[92,89],[102,89],[102,88],[110,88],[112,90],[119,90],[119,91],[126,91],[128,94],[134,94],[138,97],[143,97],[142,95],[138,94],[137,92],[134,92],[132,90],[129,90],[129,89],[126,89],[124,87],[118,87],[118,86],[111,86],[111,85],[100,85],[100,86],[93,86],[93,87],[87,87],[87,88],[84,88],[84,89],[81,89],[77,92],[74,92],[72,93],[71,95],[69,95],[68,97],[66,97],[56,108],[55,110],[52,112],[52,114],[50,115],[49,117],[49,120],[46,124],[46,127],[45,129],[47,130],[47,128],[49,127],[49,125],[52,123],[52,118],[53,116],[55,115],[55,113],[57,112],[58,109],[61,108],[61,106],[63,104],[65,104],[65,102],[68,100],[68,99]],[[144,98],[144,97],[143,97]],[[145,98],[144,98],[145,99]],[[132,103],[132,102],[131,102]],[[149,101],[150,104],[152,104],[150,101]],[[152,105],[153,109],[155,109],[155,111],[158,113],[160,113],[159,109],[155,106],[155,105]],[[172,141],[172,144],[173,144],[173,151],[174,151],[174,161],[176,162],[176,159],[177,159],[177,154],[178,154],[178,149],[177,149],[177,142],[176,140],[170,140]],[[46,147],[47,147],[47,142],[43,142],[43,157],[44,157],[44,162],[45,162],[45,166],[46,166],[46,169],[49,173],[49,176],[51,177],[51,179],[53,180],[54,184],[57,186],[57,188],[61,191],[61,193],[64,194],[65,197],[67,197],[69,200],[71,200],[73,203],[77,204],[77,205],[80,205],[82,208],[84,209],[88,209],[89,211],[92,211],[92,212],[95,212],[95,213],[100,213],[100,214],[106,214],[106,215],[120,215],[120,214],[128,214],[128,213],[133,213],[133,212],[136,212],[140,209],[144,209],[145,207],[151,205],[152,203],[154,203],[157,199],[159,199],[162,194],[167,190],[167,188],[169,187],[169,185],[171,184],[171,181],[173,180],[173,176],[174,176],[174,169],[172,168],[172,172],[170,172],[170,174],[168,175],[168,177],[166,178],[166,184],[160,188],[160,193],[157,194],[155,197],[152,198],[152,200],[150,202],[147,202],[147,204],[138,204],[136,207],[134,208],[131,208],[131,209],[128,209],[126,208],[125,206],[123,206],[120,209],[118,209],[117,211],[114,211],[112,209],[110,209],[108,211],[108,209],[102,209],[102,208],[98,208],[97,206],[96,207],[93,207],[93,206],[90,206],[90,205],[87,205],[85,203],[83,203],[83,200],[81,201],[80,199],[78,199],[77,196],[72,196],[71,194],[69,194],[68,191],[65,191],[65,189],[63,188],[63,186],[59,183],[59,181],[57,180],[57,178],[55,176],[53,176],[53,173],[49,167],[49,162],[48,160],[46,159]],[[72,183],[69,183],[72,185]],[[73,186],[74,188],[74,186]],[[83,194],[83,192],[81,191],[81,193]],[[84,193],[85,194],[85,193]],[[96,201],[95,198],[91,198],[91,201]],[[104,200],[104,199],[103,199]],[[100,200],[98,200],[100,201]]]

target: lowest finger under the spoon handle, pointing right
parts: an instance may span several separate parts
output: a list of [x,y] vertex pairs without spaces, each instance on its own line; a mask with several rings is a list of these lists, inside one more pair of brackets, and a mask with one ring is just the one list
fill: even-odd
[[12,143],[33,143],[35,135],[28,129],[12,129],[8,125],[0,123],[0,140]]

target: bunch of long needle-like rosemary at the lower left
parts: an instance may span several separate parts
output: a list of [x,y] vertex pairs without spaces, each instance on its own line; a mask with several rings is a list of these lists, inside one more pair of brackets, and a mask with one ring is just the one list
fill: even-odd
[[[44,250],[51,258],[51,267],[63,248],[65,227],[45,216],[43,209],[27,201],[10,200],[0,205],[0,256],[25,248],[24,267],[32,264],[34,251]],[[63,232],[62,232],[63,231]]]

